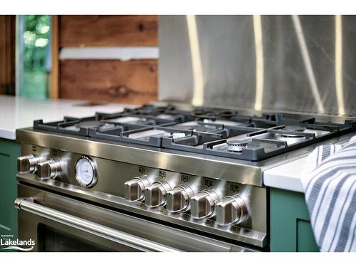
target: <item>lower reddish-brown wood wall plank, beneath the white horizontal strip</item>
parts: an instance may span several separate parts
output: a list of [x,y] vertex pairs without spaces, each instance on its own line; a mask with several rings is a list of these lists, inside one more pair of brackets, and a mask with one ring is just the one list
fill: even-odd
[[64,60],[61,98],[143,104],[157,100],[157,60]]

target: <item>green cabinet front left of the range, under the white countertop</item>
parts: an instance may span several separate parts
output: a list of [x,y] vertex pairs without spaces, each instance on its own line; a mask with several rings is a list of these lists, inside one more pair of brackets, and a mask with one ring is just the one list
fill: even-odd
[[0,138],[0,235],[14,236],[11,239],[17,238],[14,200],[17,196],[16,159],[19,155],[19,143]]

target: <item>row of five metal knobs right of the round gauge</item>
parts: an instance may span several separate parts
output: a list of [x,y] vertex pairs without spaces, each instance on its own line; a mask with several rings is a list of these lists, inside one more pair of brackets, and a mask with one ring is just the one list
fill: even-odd
[[248,219],[248,204],[239,194],[221,198],[212,189],[194,192],[188,185],[171,187],[168,182],[151,183],[146,177],[125,182],[127,201],[144,201],[146,206],[165,206],[167,211],[184,212],[190,209],[194,219],[216,215],[221,226],[239,224]]

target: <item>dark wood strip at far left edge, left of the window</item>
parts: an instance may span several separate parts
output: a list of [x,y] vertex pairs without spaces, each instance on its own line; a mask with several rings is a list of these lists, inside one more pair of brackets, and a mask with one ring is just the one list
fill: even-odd
[[15,16],[0,16],[0,94],[15,95]]

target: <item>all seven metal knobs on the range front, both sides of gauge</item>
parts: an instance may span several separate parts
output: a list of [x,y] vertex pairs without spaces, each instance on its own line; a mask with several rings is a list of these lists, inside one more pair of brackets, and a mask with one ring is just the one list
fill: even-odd
[[[17,159],[17,169],[20,173],[36,173],[38,179],[54,179],[61,174],[61,162],[26,155]],[[136,177],[125,182],[125,199],[145,201],[149,207],[165,206],[172,213],[190,209],[194,219],[216,215],[216,222],[222,226],[239,224],[248,219],[248,201],[239,194],[221,198],[214,189],[195,192],[187,184],[172,187],[169,182],[150,182],[147,177]]]

